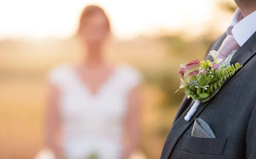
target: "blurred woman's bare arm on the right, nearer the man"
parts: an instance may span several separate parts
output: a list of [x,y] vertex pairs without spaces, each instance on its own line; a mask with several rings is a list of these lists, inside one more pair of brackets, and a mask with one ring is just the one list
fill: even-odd
[[128,96],[129,105],[125,123],[125,149],[121,159],[128,159],[137,149],[140,138],[141,85],[133,88]]

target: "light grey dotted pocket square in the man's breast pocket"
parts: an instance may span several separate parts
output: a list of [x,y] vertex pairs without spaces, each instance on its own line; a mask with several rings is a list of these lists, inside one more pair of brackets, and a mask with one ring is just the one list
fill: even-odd
[[195,119],[191,136],[200,138],[216,138],[210,126],[200,118]]

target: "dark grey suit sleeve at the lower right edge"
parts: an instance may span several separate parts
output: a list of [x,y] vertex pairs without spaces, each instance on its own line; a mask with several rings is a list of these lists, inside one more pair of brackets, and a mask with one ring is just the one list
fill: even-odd
[[246,159],[256,159],[256,104],[253,107],[247,127]]

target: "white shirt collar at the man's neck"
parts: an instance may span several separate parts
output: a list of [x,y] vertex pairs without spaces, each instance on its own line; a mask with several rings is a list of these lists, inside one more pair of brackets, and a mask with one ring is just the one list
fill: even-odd
[[227,29],[227,34],[233,35],[236,42],[242,46],[256,31],[256,11],[243,18],[240,9],[236,9],[233,20]]

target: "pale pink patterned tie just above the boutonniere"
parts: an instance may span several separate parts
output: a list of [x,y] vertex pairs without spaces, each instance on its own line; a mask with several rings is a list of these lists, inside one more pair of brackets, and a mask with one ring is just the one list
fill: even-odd
[[[218,50],[216,58],[226,60],[227,56],[231,54],[232,51],[238,50],[239,48],[240,45],[236,42],[235,38],[232,35],[227,35]],[[218,65],[221,65],[221,63],[219,63]]]

